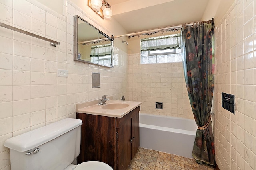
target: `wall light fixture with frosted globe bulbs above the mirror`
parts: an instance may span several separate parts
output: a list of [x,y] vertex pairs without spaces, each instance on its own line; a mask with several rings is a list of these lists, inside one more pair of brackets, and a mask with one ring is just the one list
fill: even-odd
[[94,10],[101,18],[111,20],[112,10],[106,0],[88,0],[88,6]]

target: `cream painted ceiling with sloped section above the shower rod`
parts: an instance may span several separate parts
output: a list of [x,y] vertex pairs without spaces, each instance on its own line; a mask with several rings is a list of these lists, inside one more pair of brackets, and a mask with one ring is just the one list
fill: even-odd
[[128,33],[200,21],[208,1],[107,0],[112,18]]

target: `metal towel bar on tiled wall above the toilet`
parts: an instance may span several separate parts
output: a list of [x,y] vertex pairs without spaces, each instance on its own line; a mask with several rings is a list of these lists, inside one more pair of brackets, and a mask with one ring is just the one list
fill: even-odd
[[39,35],[36,35],[34,33],[30,33],[28,31],[24,31],[22,29],[18,29],[16,27],[12,27],[10,25],[7,25],[7,24],[4,24],[4,23],[1,23],[0,22],[0,27],[4,27],[4,28],[7,28],[7,29],[11,29],[12,31],[16,31],[16,32],[19,32],[19,33],[23,33],[23,34],[26,34],[26,35],[30,35],[32,37],[36,37],[38,39],[42,39],[42,40],[45,40],[45,41],[49,41],[51,44],[51,46],[54,46],[56,47],[56,45],[60,45],[60,43],[58,41],[54,41],[54,40],[51,40],[51,39],[48,39],[48,38],[45,38],[45,37],[42,37],[42,36],[39,36]]

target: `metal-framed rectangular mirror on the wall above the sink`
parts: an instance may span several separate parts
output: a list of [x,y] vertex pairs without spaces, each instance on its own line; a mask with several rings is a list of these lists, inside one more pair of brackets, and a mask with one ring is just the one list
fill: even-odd
[[113,68],[113,36],[74,16],[74,61]]

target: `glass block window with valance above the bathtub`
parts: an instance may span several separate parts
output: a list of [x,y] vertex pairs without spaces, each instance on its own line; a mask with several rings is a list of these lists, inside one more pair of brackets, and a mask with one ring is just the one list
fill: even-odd
[[141,39],[141,64],[182,62],[180,35]]

